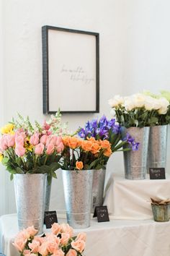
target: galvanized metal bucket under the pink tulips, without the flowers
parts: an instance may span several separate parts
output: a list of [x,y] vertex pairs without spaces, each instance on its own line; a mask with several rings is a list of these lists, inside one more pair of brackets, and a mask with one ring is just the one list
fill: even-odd
[[19,230],[34,226],[43,232],[47,174],[14,174]]

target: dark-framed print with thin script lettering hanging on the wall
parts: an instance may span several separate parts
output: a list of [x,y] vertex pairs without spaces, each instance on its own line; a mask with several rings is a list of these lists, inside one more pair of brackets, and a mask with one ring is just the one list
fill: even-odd
[[42,27],[43,113],[99,113],[99,33]]

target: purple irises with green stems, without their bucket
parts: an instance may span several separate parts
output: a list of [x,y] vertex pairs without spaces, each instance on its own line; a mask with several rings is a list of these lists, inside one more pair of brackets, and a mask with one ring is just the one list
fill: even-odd
[[[79,128],[79,137],[89,140],[90,137],[95,140],[107,140],[110,143],[112,153],[124,150],[138,150],[139,143],[129,134],[122,139],[120,124],[115,119],[107,120],[106,116],[102,116],[99,120],[93,119],[87,121],[84,128]],[[123,148],[126,146],[125,148]],[[107,163],[109,155],[104,155],[104,164]]]

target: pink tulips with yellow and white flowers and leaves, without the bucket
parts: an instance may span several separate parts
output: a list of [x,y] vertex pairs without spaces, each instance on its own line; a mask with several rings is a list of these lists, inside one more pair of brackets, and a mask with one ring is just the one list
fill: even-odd
[[[53,134],[55,127],[58,134]],[[50,119],[49,124],[45,121],[42,126],[35,121],[33,127],[29,117],[24,119],[19,115],[19,120],[12,119],[1,128],[1,134],[0,158],[11,179],[13,174],[48,173],[48,180],[56,177],[64,148],[60,116]]]

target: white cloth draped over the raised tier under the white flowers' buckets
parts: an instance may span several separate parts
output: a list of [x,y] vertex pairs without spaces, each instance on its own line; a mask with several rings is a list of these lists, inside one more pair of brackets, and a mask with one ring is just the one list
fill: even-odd
[[151,197],[170,198],[170,176],[166,179],[130,180],[112,174],[107,184],[104,205],[115,219],[145,220],[153,218]]

